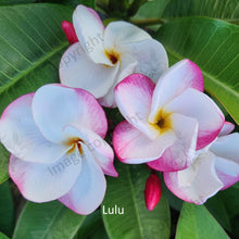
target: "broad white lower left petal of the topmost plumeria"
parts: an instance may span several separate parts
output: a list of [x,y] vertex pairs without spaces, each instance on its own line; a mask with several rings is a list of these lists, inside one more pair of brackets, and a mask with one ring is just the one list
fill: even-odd
[[101,98],[116,80],[118,67],[120,63],[114,66],[96,64],[77,42],[63,54],[59,74],[63,85],[85,89],[96,98]]

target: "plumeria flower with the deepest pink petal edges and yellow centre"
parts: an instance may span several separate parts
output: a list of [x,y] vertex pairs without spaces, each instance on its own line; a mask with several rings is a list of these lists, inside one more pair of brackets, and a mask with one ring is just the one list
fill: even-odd
[[148,163],[156,171],[187,168],[197,150],[218,135],[224,115],[203,92],[199,67],[183,60],[156,86],[133,74],[115,88],[115,101],[125,122],[116,126],[113,144],[124,163]]

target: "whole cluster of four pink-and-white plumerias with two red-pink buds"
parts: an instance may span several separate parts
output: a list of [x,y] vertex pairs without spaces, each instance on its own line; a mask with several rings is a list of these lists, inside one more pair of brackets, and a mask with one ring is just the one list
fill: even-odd
[[239,180],[239,134],[230,134],[234,125],[203,92],[194,63],[168,68],[166,51],[148,33],[123,21],[104,27],[84,5],[62,28],[71,46],[61,59],[61,84],[16,99],[0,120],[10,176],[27,200],[58,199],[78,214],[101,204],[104,174],[117,177],[101,105],[117,106],[126,120],[113,133],[120,161],[152,168],[149,210],[162,191],[155,172],[196,204]]

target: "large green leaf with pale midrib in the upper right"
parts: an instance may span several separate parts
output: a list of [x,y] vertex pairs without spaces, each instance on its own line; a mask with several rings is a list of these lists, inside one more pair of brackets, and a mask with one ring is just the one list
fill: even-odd
[[171,64],[190,59],[201,68],[205,89],[239,123],[239,26],[206,17],[185,17],[165,24],[155,38]]

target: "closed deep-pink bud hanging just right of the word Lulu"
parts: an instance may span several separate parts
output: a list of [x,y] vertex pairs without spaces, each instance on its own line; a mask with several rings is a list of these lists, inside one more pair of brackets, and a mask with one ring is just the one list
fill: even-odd
[[146,206],[152,211],[160,201],[162,187],[160,178],[156,174],[152,173],[146,181],[144,200]]

